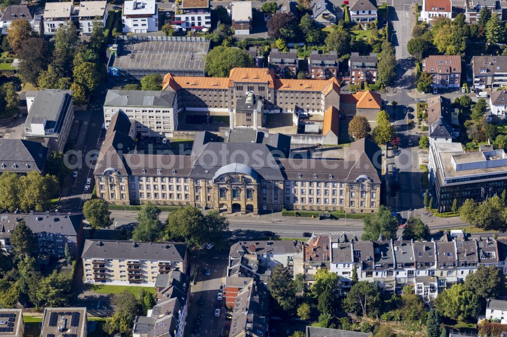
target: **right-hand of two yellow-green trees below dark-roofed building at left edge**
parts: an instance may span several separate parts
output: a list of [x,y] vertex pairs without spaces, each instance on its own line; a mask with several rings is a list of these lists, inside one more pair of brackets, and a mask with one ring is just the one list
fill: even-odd
[[25,211],[42,212],[51,206],[51,198],[58,192],[58,179],[55,176],[42,176],[31,171],[19,178],[19,208]]

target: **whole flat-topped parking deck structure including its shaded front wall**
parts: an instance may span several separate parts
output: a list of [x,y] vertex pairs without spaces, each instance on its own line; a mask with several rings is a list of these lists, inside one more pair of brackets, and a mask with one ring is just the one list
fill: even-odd
[[[155,1],[155,0],[154,0]],[[151,74],[204,76],[209,40],[185,36],[118,36],[108,50],[107,73],[119,83]]]

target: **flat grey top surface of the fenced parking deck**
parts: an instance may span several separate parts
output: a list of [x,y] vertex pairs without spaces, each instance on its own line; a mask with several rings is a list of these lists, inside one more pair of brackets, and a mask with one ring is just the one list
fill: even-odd
[[108,67],[150,70],[202,70],[209,41],[201,37],[119,36],[117,56]]

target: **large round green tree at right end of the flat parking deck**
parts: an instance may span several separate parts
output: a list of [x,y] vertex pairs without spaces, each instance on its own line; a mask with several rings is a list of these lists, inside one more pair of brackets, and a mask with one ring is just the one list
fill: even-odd
[[253,66],[253,58],[244,51],[232,47],[217,46],[206,56],[204,70],[212,77],[227,77],[231,69]]

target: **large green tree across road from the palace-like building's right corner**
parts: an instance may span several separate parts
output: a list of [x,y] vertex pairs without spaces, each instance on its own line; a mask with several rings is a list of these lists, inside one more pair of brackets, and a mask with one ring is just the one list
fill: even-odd
[[396,238],[398,220],[393,217],[391,209],[380,205],[377,212],[365,219],[363,240],[378,240],[382,234],[384,239]]

